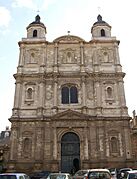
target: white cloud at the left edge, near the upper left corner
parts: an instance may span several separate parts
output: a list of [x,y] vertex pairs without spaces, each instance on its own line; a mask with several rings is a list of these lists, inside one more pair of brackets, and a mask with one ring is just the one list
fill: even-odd
[[0,6],[0,27],[7,27],[10,23],[10,11],[5,7]]

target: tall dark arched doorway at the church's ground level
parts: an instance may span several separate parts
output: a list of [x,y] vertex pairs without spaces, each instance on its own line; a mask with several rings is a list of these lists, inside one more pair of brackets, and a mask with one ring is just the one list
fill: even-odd
[[61,171],[74,173],[80,168],[80,140],[77,134],[68,132],[61,139]]

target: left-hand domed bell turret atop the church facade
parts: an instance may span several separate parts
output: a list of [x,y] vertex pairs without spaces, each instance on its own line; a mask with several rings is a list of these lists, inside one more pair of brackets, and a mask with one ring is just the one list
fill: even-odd
[[45,38],[46,33],[46,27],[40,22],[40,16],[37,15],[35,21],[30,23],[27,27],[27,38]]

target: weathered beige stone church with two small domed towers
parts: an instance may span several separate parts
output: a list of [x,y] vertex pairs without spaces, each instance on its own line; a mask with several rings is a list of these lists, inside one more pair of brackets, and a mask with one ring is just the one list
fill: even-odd
[[47,41],[39,15],[26,29],[18,43],[8,171],[133,167],[136,132],[111,26],[98,15],[89,41],[70,34]]

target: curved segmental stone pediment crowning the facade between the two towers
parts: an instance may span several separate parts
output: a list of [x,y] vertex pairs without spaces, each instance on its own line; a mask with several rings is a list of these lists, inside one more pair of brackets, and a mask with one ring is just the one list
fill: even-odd
[[61,37],[56,38],[53,42],[60,42],[60,43],[79,43],[79,42],[84,42],[82,38],[74,35],[64,35]]

